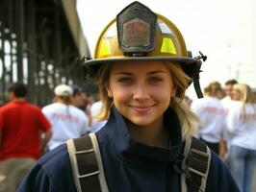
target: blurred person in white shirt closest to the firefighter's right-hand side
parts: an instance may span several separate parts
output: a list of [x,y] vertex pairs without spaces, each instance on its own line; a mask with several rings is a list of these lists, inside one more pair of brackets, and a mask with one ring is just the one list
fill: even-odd
[[[219,154],[219,143],[225,129],[224,108],[220,104],[221,85],[212,82],[204,88],[205,97],[192,102],[192,110],[201,120],[198,136]],[[225,151],[223,151],[223,154]],[[220,156],[223,156],[221,154]]]

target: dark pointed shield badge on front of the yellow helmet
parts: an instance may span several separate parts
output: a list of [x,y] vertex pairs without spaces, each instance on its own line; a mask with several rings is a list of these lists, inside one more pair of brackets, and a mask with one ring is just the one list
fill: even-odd
[[143,56],[155,45],[157,15],[135,1],[116,16],[120,49],[131,56]]

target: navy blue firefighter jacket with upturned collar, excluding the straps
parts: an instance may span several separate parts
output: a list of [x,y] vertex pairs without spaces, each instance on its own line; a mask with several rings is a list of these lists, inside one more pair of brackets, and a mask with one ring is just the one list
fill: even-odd
[[[125,119],[113,108],[109,121],[96,132],[110,192],[179,192],[181,154],[184,142],[176,113],[165,113],[171,147],[146,146],[131,138]],[[73,192],[71,165],[66,145],[42,156],[21,182],[18,192]],[[237,192],[224,163],[212,152],[206,192]]]

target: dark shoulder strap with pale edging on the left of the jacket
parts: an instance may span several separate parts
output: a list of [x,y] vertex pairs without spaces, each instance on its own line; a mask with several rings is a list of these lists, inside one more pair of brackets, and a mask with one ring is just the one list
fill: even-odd
[[96,135],[90,133],[66,142],[78,192],[108,192]]

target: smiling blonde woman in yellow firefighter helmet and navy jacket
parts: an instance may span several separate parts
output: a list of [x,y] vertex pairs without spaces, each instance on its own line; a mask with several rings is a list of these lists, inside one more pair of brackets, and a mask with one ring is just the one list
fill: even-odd
[[107,124],[47,153],[18,192],[239,191],[219,157],[192,137],[198,118],[182,100],[192,82],[201,96],[205,57],[188,57],[171,21],[135,1],[104,29],[94,56],[84,64]]

